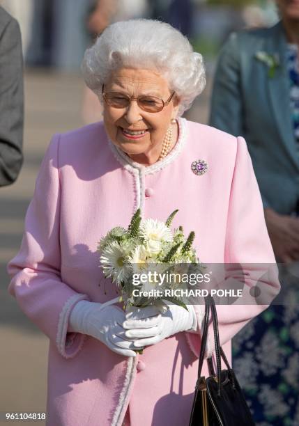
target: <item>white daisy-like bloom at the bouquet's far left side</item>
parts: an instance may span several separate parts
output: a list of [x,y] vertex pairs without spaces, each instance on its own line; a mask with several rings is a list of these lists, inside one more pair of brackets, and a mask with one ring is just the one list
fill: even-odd
[[130,276],[130,265],[125,262],[129,250],[129,245],[114,241],[104,249],[100,256],[104,275],[112,278],[112,282],[116,282],[117,285]]

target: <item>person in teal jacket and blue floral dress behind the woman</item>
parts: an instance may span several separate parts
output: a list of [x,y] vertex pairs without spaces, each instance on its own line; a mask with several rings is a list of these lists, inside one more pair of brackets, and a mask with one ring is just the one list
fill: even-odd
[[[275,256],[289,265],[299,260],[299,3],[277,6],[275,26],[233,33],[222,48],[210,125],[245,137]],[[281,265],[280,306],[235,339],[234,365],[258,425],[299,425],[296,270]]]

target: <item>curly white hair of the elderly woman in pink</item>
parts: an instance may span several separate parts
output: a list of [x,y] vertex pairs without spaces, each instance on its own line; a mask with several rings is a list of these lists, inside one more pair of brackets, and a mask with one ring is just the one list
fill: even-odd
[[206,86],[201,54],[193,52],[183,34],[165,22],[130,19],[107,26],[86,49],[82,72],[86,85],[102,101],[102,84],[118,68],[156,70],[181,100],[178,116],[190,108]]

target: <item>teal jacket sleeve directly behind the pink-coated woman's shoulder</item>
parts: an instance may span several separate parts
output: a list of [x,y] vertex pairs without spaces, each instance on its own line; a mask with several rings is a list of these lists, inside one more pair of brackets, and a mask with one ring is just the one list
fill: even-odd
[[233,136],[245,136],[239,55],[238,35],[232,33],[217,61],[210,108],[210,125]]

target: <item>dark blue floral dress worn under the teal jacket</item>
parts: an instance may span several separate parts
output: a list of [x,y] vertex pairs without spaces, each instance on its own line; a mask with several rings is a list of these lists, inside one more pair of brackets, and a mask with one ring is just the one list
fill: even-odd
[[[288,45],[293,129],[299,142],[298,47]],[[299,145],[298,145],[299,146]],[[233,339],[233,368],[257,426],[299,426],[299,263],[280,271],[273,304]]]

